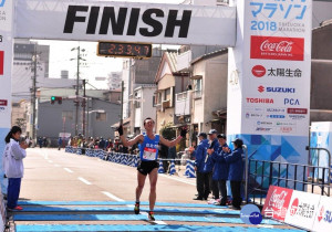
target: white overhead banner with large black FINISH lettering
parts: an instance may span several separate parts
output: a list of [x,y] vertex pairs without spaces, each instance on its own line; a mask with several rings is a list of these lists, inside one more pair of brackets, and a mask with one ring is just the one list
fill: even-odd
[[234,46],[236,8],[17,0],[14,36]]

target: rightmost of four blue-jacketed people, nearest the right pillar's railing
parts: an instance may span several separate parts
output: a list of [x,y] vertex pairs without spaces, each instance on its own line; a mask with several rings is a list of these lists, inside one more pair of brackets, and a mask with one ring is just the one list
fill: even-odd
[[240,138],[235,139],[234,141],[234,151],[228,156],[221,158],[226,164],[229,165],[228,180],[230,180],[230,189],[232,194],[232,205],[235,210],[240,210],[242,202],[241,199],[241,182],[243,177],[243,161],[242,161],[242,145],[243,141]]

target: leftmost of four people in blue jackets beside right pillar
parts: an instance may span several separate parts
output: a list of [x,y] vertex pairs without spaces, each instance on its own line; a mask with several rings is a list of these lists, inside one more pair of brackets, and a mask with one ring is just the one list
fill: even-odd
[[194,200],[207,200],[210,193],[209,175],[212,170],[210,166],[210,158],[207,155],[209,141],[207,140],[206,133],[198,135],[199,144],[196,148],[196,159],[194,168],[196,171],[196,188],[198,196]]

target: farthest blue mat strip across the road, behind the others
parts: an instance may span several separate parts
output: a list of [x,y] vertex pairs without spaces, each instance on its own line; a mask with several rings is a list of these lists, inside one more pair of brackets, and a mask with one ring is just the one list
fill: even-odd
[[[134,201],[19,201],[19,205],[125,205],[134,204]],[[141,205],[148,205],[147,201],[141,202]],[[200,204],[200,203],[170,203],[170,202],[157,202],[157,207],[183,207],[183,208],[212,208],[212,209],[226,209],[227,207],[214,205],[214,204]]]

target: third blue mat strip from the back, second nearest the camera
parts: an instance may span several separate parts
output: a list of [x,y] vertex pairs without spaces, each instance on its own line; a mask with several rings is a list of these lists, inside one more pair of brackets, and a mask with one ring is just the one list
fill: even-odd
[[[138,214],[18,214],[14,221],[143,221],[146,215]],[[243,224],[239,218],[156,215],[156,220],[179,222],[214,222]],[[280,225],[282,223],[264,219],[262,224]]]

